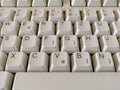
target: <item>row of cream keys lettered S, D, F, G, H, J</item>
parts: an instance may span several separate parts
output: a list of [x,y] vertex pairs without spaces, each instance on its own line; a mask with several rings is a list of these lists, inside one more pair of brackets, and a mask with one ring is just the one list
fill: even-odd
[[1,51],[9,52],[89,52],[91,54],[96,52],[111,52],[116,53],[120,51],[120,38],[117,39],[113,35],[104,35],[100,39],[95,35],[84,35],[78,39],[74,35],[65,35],[59,39],[55,35],[45,35],[42,39],[35,35],[25,35],[21,39],[16,35],[4,36],[1,41]]

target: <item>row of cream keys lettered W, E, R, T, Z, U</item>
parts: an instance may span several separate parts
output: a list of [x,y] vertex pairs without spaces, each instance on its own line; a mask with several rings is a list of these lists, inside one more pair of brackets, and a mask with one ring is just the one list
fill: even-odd
[[[66,27],[67,26],[67,27]],[[42,38],[44,35],[56,35],[59,38],[64,35],[76,35],[78,38],[83,35],[115,35],[120,37],[120,21],[108,24],[106,21],[96,21],[92,24],[88,21],[77,21],[72,24],[70,21],[59,21],[54,24],[51,21],[41,21],[39,24],[33,21],[26,21],[19,24],[16,21],[6,21],[0,23],[0,36],[17,35],[37,35]]]

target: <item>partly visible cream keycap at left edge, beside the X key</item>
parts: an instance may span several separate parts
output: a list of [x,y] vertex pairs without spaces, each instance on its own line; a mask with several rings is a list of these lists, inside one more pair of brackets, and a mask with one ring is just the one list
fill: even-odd
[[7,55],[3,52],[0,52],[0,71],[5,69],[5,64],[7,61]]

